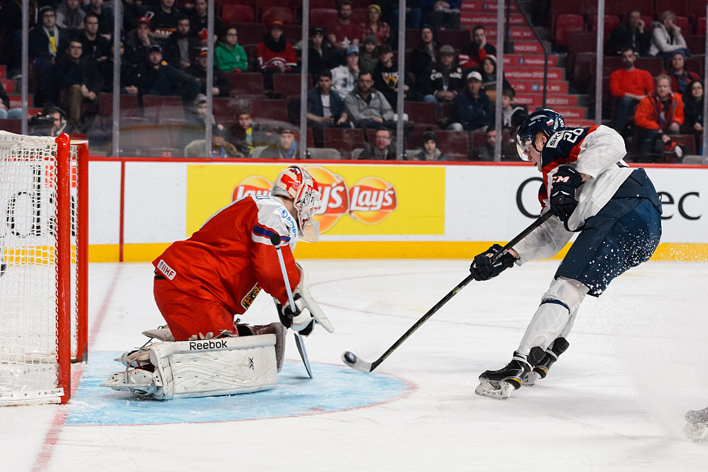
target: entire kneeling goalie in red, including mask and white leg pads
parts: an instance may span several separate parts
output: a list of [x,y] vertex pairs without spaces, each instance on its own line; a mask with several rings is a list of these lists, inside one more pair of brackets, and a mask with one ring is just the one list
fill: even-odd
[[[144,331],[148,343],[116,359],[125,371],[101,385],[161,400],[273,388],[287,328],[305,336],[316,324],[334,331],[309,293],[307,272],[292,257],[299,238],[317,241],[319,204],[316,181],[290,166],[275,179],[271,195],[233,202],[169,246],[153,261],[155,302],[167,327]],[[280,249],[272,242],[278,238]],[[261,290],[273,297],[280,323],[235,324],[234,316],[246,312]]]

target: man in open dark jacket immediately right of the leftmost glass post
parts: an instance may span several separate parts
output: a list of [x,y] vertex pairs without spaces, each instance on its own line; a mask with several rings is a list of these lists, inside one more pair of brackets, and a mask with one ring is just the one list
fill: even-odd
[[67,33],[57,27],[56,14],[51,6],[42,6],[38,17],[41,18],[40,24],[29,33],[29,58],[38,81],[35,104],[43,106],[54,103],[52,67],[67,49]]

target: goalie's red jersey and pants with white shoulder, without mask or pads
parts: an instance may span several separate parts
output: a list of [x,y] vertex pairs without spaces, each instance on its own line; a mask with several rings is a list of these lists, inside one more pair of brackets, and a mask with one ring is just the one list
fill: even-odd
[[[203,326],[232,329],[233,316],[244,313],[261,289],[287,304],[278,254],[270,242],[274,233],[287,244],[282,255],[294,289],[300,278],[292,257],[297,223],[278,197],[246,197],[232,203],[153,261],[155,300],[176,339],[198,334],[194,330]],[[181,294],[183,303],[176,300]],[[200,323],[200,318],[207,319]]]

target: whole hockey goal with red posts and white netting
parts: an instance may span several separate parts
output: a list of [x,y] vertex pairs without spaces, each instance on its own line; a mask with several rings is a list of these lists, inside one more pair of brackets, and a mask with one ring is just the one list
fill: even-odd
[[86,360],[87,154],[0,132],[0,406],[66,403]]

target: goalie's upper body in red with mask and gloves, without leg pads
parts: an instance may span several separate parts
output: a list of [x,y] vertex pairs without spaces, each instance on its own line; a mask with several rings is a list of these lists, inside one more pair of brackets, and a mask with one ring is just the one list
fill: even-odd
[[[302,270],[292,257],[298,238],[317,241],[319,222],[312,217],[319,202],[319,186],[312,176],[290,166],[278,175],[270,196],[233,202],[190,238],[159,255],[153,261],[154,297],[175,340],[207,333],[236,335],[234,316],[249,309],[261,289],[279,304],[286,328],[309,335],[314,323],[321,323],[331,330],[301,283]],[[287,307],[287,292],[272,234],[286,243],[282,255],[292,291],[304,307],[300,313],[280,308]]]

